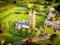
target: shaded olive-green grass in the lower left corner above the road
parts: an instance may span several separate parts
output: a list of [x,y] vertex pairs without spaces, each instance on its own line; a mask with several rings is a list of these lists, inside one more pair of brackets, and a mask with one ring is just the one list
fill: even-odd
[[18,41],[18,40],[22,40],[23,38],[18,36],[18,35],[15,35],[15,34],[12,34],[12,33],[3,33],[3,34],[0,34],[0,41],[1,40],[5,40],[6,43],[10,42],[15,42],[15,41]]

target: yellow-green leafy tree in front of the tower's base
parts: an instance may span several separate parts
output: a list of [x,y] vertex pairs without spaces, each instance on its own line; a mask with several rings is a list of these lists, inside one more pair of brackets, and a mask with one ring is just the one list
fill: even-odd
[[31,38],[37,38],[40,35],[40,30],[38,28],[32,29],[30,28],[27,31],[27,37],[31,37]]

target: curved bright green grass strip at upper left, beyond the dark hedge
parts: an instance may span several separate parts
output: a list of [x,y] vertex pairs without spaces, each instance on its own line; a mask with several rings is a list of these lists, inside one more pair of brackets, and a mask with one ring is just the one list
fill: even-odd
[[26,8],[23,8],[23,7],[14,7],[14,8],[11,8],[9,10],[3,11],[3,12],[0,13],[0,15],[1,15],[0,19],[6,18],[6,17],[8,17],[9,15],[13,14],[16,11],[19,11],[19,10],[23,10],[24,11],[25,9]]

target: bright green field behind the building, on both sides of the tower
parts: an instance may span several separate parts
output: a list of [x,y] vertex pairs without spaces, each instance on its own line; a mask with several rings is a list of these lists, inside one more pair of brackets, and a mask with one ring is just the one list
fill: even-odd
[[[10,22],[15,22],[17,20],[29,20],[29,15],[28,14],[16,14],[15,12],[17,11],[22,11],[26,12],[26,8],[24,7],[14,7],[12,9],[9,9],[7,11],[4,11],[2,13],[0,13],[0,20],[2,19],[6,19],[6,21]],[[36,23],[38,24],[39,22],[41,22],[42,20],[44,20],[44,16],[41,15],[36,15]]]

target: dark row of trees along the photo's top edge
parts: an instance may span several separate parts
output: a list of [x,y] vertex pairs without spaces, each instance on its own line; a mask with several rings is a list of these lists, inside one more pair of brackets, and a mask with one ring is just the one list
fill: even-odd
[[28,3],[46,4],[51,2],[60,2],[60,0],[0,0],[0,6],[4,6],[7,4],[16,4],[25,6]]

